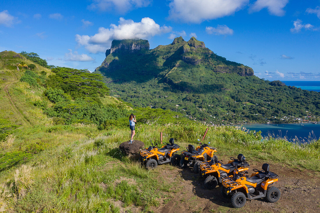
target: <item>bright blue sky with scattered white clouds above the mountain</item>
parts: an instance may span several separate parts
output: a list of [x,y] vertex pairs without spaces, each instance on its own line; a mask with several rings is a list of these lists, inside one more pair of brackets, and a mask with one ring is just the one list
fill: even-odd
[[[19,6],[17,6],[19,5]],[[94,69],[113,39],[195,36],[268,80],[320,81],[320,0],[1,1],[0,51]]]

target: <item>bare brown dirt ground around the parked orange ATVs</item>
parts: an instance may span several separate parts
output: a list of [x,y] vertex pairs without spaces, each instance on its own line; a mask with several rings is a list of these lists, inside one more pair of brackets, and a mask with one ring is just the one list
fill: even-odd
[[[250,163],[250,162],[249,162]],[[247,200],[241,209],[232,208],[229,199],[220,194],[220,186],[205,190],[198,175],[191,168],[180,169],[160,165],[157,170],[169,183],[181,180],[177,192],[166,194],[167,199],[151,210],[160,213],[182,212],[320,212],[320,173],[292,169],[280,164],[269,164],[270,171],[279,175],[274,185],[280,189],[281,197],[275,203],[265,199]],[[262,162],[250,163],[252,169],[261,170]],[[177,179],[178,178],[178,179]]]

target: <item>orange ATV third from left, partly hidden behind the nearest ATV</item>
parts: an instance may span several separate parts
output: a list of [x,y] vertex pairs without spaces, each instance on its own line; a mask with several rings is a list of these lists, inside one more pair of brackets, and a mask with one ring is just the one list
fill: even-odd
[[245,161],[243,154],[238,154],[238,159],[230,157],[228,164],[221,164],[216,155],[211,161],[202,162],[200,164],[200,175],[205,178],[204,187],[214,189],[218,183],[222,182],[222,178],[232,174],[236,167],[238,171],[249,169],[249,163]]

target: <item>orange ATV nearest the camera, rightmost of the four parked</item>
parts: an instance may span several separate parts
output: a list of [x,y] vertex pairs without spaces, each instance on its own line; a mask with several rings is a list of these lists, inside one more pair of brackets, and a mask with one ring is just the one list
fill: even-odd
[[235,208],[244,206],[246,199],[252,200],[265,197],[268,202],[274,203],[280,198],[280,190],[271,186],[278,181],[278,175],[269,172],[269,164],[264,163],[260,171],[254,169],[251,177],[244,173],[222,178],[221,193],[223,196],[231,196],[231,204]]

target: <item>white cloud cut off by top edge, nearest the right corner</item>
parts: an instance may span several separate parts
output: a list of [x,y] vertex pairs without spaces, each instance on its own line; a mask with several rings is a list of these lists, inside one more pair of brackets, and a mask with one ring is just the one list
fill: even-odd
[[257,0],[251,7],[251,12],[257,12],[263,8],[267,8],[269,13],[276,16],[283,16],[285,11],[283,8],[289,0]]

